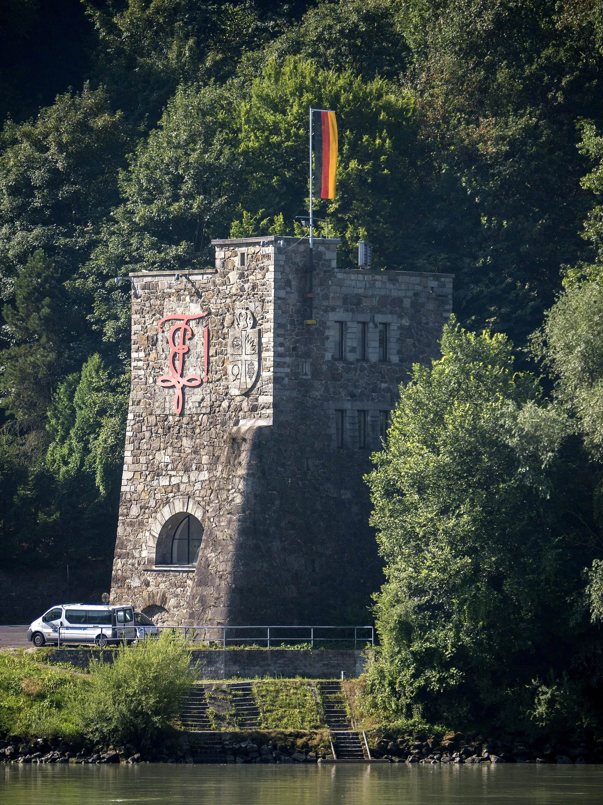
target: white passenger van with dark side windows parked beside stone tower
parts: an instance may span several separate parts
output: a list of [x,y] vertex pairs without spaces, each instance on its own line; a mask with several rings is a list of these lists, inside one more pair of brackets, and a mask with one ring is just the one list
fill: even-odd
[[136,639],[134,609],[129,605],[59,604],[51,607],[27,630],[34,646],[45,643],[95,643],[107,646]]

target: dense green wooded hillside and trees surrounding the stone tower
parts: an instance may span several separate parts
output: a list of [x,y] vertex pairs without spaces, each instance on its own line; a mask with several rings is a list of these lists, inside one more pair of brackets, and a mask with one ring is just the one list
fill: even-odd
[[451,328],[403,391],[371,480],[372,700],[544,724],[565,697],[597,719],[597,0],[51,5],[0,16],[2,564],[107,572],[129,364],[113,279],[206,265],[213,237],[301,236],[308,106],[333,108],[317,213],[340,265],[367,237],[375,267],[452,272],[458,322],[508,339]]

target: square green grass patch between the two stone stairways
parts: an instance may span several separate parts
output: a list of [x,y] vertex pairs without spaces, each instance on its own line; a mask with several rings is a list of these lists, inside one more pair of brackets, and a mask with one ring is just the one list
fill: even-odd
[[262,679],[254,687],[265,729],[321,729],[309,683],[300,679]]

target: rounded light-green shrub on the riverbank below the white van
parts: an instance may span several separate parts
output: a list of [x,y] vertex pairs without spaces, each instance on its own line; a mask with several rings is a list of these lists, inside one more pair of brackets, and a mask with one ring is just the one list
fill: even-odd
[[187,642],[168,631],[120,646],[113,663],[93,660],[78,706],[82,731],[94,741],[149,745],[178,715],[195,679],[190,663]]

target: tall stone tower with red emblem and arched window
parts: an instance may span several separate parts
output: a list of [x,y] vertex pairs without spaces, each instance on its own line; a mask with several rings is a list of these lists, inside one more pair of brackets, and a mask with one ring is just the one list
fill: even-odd
[[[398,386],[437,357],[452,275],[338,270],[337,241],[215,241],[133,274],[112,601],[158,623],[367,621],[363,474]],[[309,324],[312,299],[314,324]]]

